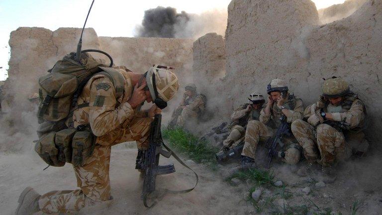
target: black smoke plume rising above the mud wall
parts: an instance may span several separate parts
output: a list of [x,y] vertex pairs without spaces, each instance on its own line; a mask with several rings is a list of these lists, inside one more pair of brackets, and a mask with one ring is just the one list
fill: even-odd
[[182,11],[177,13],[173,7],[158,6],[145,11],[142,26],[138,27],[139,37],[175,38],[176,29],[186,26],[190,15]]

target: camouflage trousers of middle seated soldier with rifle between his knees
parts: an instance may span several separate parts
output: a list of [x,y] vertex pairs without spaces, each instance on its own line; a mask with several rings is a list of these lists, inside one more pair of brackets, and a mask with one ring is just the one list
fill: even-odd
[[[249,121],[245,132],[245,143],[241,155],[255,159],[256,149],[259,142],[266,142],[274,133],[275,131],[271,127],[266,126],[260,121]],[[284,143],[282,148],[284,156],[281,157],[281,160],[290,165],[297,164],[301,157],[301,150],[295,143],[296,140],[294,137],[283,137],[282,141]]]

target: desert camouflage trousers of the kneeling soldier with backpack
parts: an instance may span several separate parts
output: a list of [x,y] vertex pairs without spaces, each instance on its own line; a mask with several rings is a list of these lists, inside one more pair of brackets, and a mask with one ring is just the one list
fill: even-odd
[[135,118],[129,126],[122,125],[111,131],[117,136],[97,138],[93,154],[81,167],[74,167],[77,186],[80,190],[52,191],[42,195],[38,201],[40,210],[46,214],[73,213],[84,207],[94,206],[110,200],[109,165],[111,146],[127,141],[137,141],[138,148],[147,148],[152,118]]

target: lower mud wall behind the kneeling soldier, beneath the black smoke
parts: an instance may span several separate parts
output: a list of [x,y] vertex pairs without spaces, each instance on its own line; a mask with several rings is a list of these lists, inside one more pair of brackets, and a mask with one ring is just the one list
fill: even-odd
[[[20,27],[10,34],[9,80],[4,86],[6,99],[13,102],[19,112],[28,95],[37,92],[38,78],[53,67],[66,53],[76,51],[80,28]],[[181,83],[191,76],[192,40],[168,38],[111,38],[97,36],[93,28],[85,29],[84,49],[100,49],[114,58],[116,65],[125,65],[132,71],[144,73],[153,64],[176,68]],[[96,57],[107,59],[103,55]],[[107,61],[107,60],[106,60]]]

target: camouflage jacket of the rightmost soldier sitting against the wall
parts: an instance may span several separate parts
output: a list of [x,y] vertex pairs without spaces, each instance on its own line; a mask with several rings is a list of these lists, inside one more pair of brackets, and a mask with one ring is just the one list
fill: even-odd
[[[331,113],[333,121],[344,122],[350,130],[364,130],[367,127],[367,112],[364,103],[356,94],[349,94],[339,106],[330,103],[321,104],[320,101],[308,106],[304,110],[304,118],[319,113],[321,110]],[[308,121],[309,122],[309,121]]]

